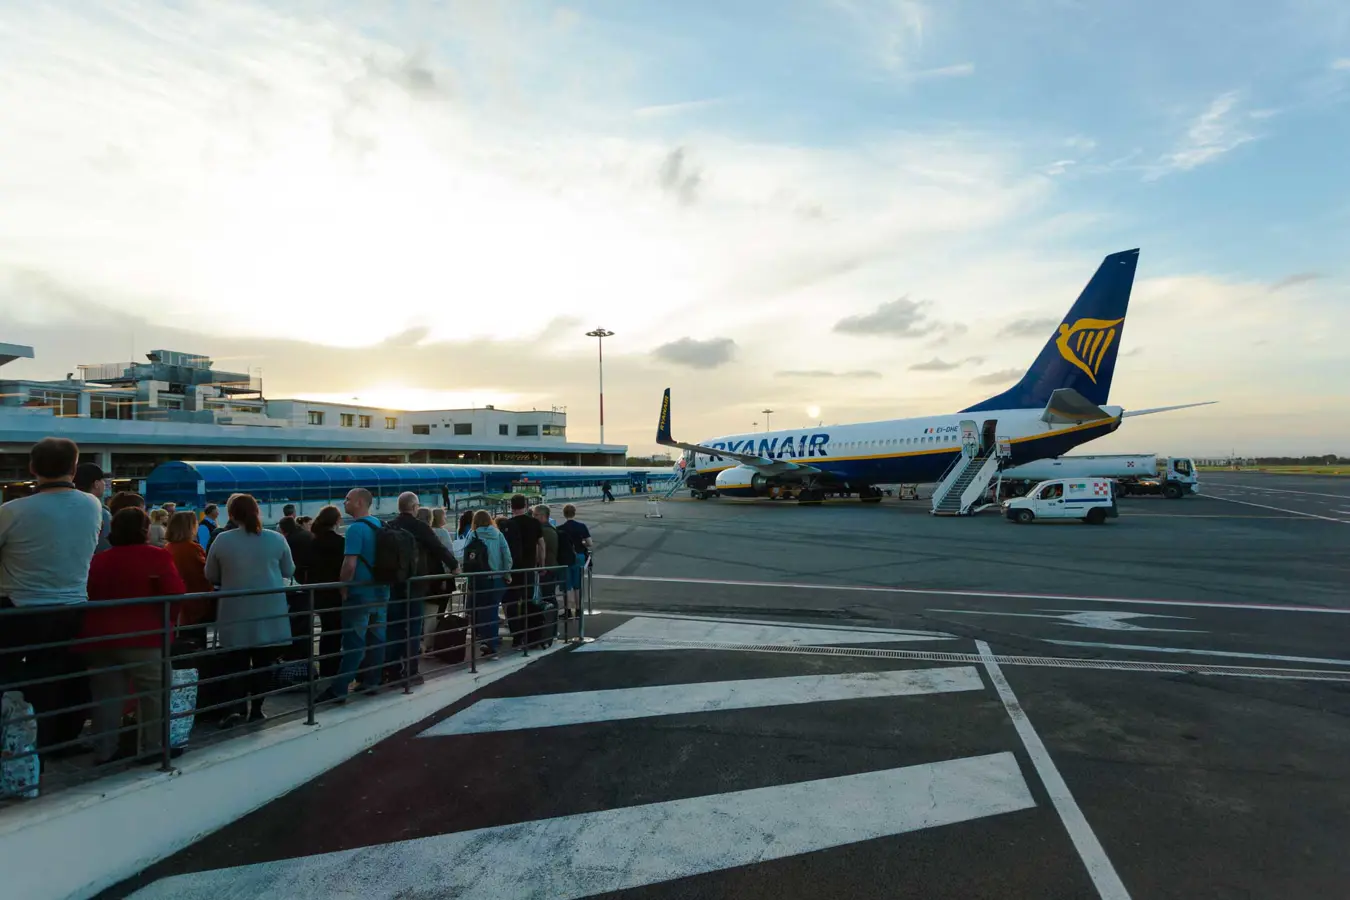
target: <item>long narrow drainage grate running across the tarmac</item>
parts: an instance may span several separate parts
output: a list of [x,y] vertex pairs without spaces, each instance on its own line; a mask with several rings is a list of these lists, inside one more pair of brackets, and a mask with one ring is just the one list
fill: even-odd
[[[606,642],[622,644],[622,637],[603,637]],[[663,645],[672,649],[695,650],[749,650],[755,653],[803,653],[807,656],[852,656],[873,660],[915,660],[921,663],[969,663],[981,665],[1038,665],[1052,669],[1107,669],[1112,672],[1156,672],[1165,675],[1226,675],[1249,679],[1299,679],[1305,681],[1350,683],[1350,672],[1326,669],[1284,669],[1249,665],[1206,665],[1189,663],[1143,663],[1135,660],[1077,660],[1062,656],[1003,656],[979,653],[952,653],[942,650],[892,650],[867,646],[806,646],[791,644],[720,644],[716,641],[680,641],[676,638],[633,638],[633,644]]]

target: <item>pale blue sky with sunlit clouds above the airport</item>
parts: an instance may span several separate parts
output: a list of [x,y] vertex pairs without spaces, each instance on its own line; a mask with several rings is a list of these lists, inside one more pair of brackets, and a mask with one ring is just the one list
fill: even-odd
[[953,412],[1141,247],[1095,447],[1350,453],[1350,4],[0,5],[0,341],[678,436]]

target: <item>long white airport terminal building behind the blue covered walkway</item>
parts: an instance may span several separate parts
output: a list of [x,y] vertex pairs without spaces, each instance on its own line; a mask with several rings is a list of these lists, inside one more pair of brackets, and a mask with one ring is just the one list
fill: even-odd
[[[32,348],[0,344],[0,366]],[[3,372],[0,372],[3,374]],[[61,381],[0,376],[0,484],[28,480],[28,447],[70,437],[113,478],[180,459],[289,463],[622,466],[620,444],[571,443],[566,409],[397,410],[267,399],[207,356],[78,366]]]

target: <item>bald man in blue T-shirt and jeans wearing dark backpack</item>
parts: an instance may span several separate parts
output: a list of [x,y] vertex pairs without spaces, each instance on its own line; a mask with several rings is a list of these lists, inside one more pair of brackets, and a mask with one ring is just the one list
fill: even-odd
[[[386,529],[378,518],[370,514],[374,497],[363,487],[347,493],[343,506],[352,522],[347,526],[343,545],[342,580],[342,665],[328,690],[319,695],[319,702],[347,702],[347,688],[362,668],[362,657],[367,664],[360,673],[360,691],[379,691],[381,672],[385,665],[385,625],[387,621],[389,586],[408,578],[412,565],[410,553],[404,559],[401,538],[406,532],[396,533]],[[367,645],[369,637],[369,645]],[[369,650],[367,650],[369,646]]]

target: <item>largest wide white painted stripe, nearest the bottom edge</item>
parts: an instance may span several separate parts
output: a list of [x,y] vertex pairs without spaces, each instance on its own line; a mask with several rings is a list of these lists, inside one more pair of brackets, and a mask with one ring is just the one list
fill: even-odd
[[572,900],[1034,806],[995,753],[197,872],[132,899]]

